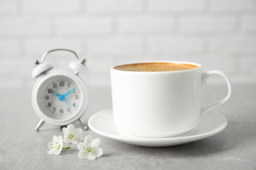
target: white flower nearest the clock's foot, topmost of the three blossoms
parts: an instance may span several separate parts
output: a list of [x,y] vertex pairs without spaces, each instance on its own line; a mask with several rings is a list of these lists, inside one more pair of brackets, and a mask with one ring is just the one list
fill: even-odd
[[77,144],[78,142],[83,141],[83,137],[81,136],[82,129],[75,129],[75,126],[73,124],[70,124],[67,128],[63,127],[62,131],[64,133],[65,143]]

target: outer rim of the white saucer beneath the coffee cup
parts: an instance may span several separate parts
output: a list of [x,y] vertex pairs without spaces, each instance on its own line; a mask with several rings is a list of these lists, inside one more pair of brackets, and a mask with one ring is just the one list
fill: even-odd
[[[220,114],[219,112],[211,112],[211,113],[207,113],[207,114],[215,114],[215,115],[221,116],[224,119],[223,124],[221,124],[217,127],[214,127],[210,131],[205,131],[204,133],[199,134],[199,135],[190,135],[190,136],[185,136],[185,137],[182,137],[181,135],[180,136],[179,135],[174,136],[174,137],[140,137],[140,136],[131,135],[131,134],[127,133],[127,134],[131,135],[131,137],[125,137],[123,135],[102,132],[102,131],[96,129],[95,127],[93,127],[91,122],[93,121],[93,119],[96,116],[98,116],[99,114],[102,114],[102,112],[111,112],[111,114],[112,114],[112,109],[101,110],[101,111],[96,112],[95,114],[93,114],[88,120],[88,126],[90,127],[90,129],[92,131],[94,131],[95,133],[98,133],[99,135],[102,135],[104,137],[108,137],[108,138],[114,139],[116,141],[121,141],[123,143],[130,143],[130,144],[131,144],[131,142],[134,143],[134,142],[137,142],[137,141],[138,142],[144,141],[144,142],[147,142],[147,143],[154,143],[154,142],[160,142],[160,141],[163,143],[163,142],[170,141],[170,143],[171,143],[171,142],[177,142],[177,141],[180,141],[180,140],[182,140],[181,143],[190,143],[190,142],[193,142],[193,141],[198,141],[200,139],[205,139],[207,137],[211,137],[213,135],[216,135],[217,133],[220,133],[221,131],[223,131],[226,128],[226,126],[228,125],[228,120],[222,114]],[[207,116],[207,114],[203,115],[202,117]],[[114,126],[114,127],[115,127],[114,130],[120,130],[116,126]],[[123,133],[125,133],[125,132],[123,132]],[[144,145],[135,144],[135,145],[147,146],[147,144],[144,144]],[[160,145],[162,145],[162,144],[160,144]],[[175,145],[178,145],[178,144],[175,144]],[[166,145],[166,146],[173,146],[173,145]]]

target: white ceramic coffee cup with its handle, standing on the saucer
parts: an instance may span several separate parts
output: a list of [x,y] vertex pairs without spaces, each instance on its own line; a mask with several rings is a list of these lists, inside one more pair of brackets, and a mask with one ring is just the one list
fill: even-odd
[[[232,86],[223,71],[202,73],[202,65],[182,71],[120,71],[111,68],[114,124],[141,137],[171,137],[196,127],[202,115],[230,99]],[[151,63],[151,62],[143,62]],[[220,75],[228,85],[224,99],[206,107],[201,105],[202,84],[209,76]]]

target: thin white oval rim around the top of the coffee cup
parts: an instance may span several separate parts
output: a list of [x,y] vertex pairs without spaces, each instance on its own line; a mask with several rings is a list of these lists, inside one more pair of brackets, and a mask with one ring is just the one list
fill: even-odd
[[[185,63],[185,64],[190,64],[190,65],[196,65],[198,66],[195,69],[188,69],[188,70],[179,70],[179,71],[125,71],[125,70],[117,70],[115,67],[117,66],[123,66],[123,65],[133,65],[133,64],[139,64],[139,63]],[[196,71],[198,69],[201,69],[202,65],[199,63],[194,63],[190,61],[139,61],[139,62],[134,62],[134,63],[124,63],[124,64],[118,64],[114,65],[111,67],[110,70],[113,71],[120,71],[124,73],[181,73],[181,72],[188,72],[188,71]]]

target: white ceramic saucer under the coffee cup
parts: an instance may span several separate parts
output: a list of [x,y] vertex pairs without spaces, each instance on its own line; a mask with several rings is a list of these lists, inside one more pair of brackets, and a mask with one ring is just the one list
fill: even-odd
[[120,141],[148,147],[165,147],[198,141],[223,131],[228,124],[224,116],[217,112],[209,112],[202,117],[200,124],[184,135],[175,137],[138,137],[117,129],[113,122],[112,109],[102,110],[89,118],[89,127],[96,133]]

